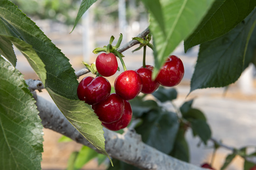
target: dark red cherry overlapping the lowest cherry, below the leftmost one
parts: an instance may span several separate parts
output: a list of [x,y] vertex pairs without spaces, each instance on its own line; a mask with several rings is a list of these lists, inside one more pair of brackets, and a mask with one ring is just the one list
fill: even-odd
[[123,115],[124,102],[116,93],[112,93],[104,101],[92,106],[94,112],[103,123],[113,123]]

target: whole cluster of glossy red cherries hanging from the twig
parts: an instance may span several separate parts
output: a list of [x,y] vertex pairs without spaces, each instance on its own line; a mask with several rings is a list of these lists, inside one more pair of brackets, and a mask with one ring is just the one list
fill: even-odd
[[[111,93],[111,85],[104,78],[115,74],[118,63],[113,53],[101,53],[95,61],[98,73],[101,76],[86,76],[77,87],[78,98],[92,105],[92,109],[102,122],[102,125],[110,130],[120,130],[127,127],[132,119],[132,108],[129,100],[135,98],[140,92],[153,93],[159,85],[178,85],[184,75],[182,61],[171,55],[156,80],[152,81],[153,66],[126,70],[121,73],[114,82],[115,93]],[[103,77],[104,76],[104,77]]]

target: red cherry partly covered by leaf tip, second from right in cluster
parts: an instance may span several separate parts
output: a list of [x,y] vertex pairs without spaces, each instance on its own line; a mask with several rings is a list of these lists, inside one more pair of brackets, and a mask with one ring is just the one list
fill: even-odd
[[152,81],[152,70],[149,68],[139,68],[135,70],[142,77],[142,93],[153,93],[158,87],[157,81]]

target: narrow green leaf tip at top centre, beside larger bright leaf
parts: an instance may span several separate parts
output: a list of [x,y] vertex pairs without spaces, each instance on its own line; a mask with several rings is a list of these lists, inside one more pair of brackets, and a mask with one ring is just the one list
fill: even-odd
[[142,0],[142,2],[149,10],[150,14],[155,18],[156,22],[160,26],[162,34],[165,35],[164,17],[162,14],[160,0]]

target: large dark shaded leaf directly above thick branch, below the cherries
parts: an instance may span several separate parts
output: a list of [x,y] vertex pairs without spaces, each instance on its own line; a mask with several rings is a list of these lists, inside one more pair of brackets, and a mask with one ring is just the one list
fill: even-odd
[[170,153],[179,130],[177,115],[173,112],[152,110],[145,114],[142,125],[136,128],[142,141],[163,153]]

